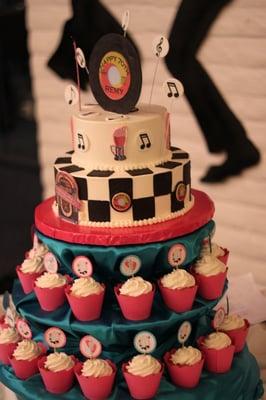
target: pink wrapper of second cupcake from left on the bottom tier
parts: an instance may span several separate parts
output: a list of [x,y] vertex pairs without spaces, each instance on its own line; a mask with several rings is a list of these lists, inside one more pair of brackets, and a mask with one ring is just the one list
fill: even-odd
[[10,364],[15,372],[15,375],[22,380],[26,380],[31,376],[39,373],[38,361],[46,353],[47,349],[42,343],[38,343],[41,353],[33,360],[16,360],[13,355],[10,357]]

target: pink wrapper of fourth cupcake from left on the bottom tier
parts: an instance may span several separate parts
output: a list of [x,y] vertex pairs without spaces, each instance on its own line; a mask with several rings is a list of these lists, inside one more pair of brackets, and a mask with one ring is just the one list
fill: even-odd
[[76,364],[74,371],[79,382],[82,393],[90,400],[103,400],[110,396],[115,380],[117,368],[110,360],[106,360],[113,369],[112,375],[95,378],[92,376],[83,376],[81,369],[83,363]]

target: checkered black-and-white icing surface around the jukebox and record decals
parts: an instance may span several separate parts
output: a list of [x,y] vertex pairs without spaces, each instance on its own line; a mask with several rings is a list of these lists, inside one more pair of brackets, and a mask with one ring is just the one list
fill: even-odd
[[[55,161],[55,174],[59,171],[71,174],[78,185],[79,199],[82,200],[82,219],[91,222],[121,222],[158,218],[182,210],[191,200],[189,155],[178,148],[171,148],[170,160],[153,168],[126,171],[85,170],[72,164],[71,156]],[[186,185],[184,201],[178,201],[175,189],[179,183]],[[127,211],[112,207],[112,198],[125,193],[131,199]]]

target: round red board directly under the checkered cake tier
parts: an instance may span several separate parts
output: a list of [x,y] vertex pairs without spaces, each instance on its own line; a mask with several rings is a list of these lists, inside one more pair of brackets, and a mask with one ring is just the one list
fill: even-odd
[[57,217],[52,209],[51,197],[35,209],[35,226],[46,236],[69,243],[98,246],[123,246],[162,242],[184,236],[209,222],[214,214],[214,203],[206,193],[192,190],[194,207],[184,216],[153,225],[129,228],[100,228],[75,225]]

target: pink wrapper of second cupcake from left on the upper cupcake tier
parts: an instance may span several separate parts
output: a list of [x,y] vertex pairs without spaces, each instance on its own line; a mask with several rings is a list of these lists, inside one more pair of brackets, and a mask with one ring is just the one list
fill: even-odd
[[42,310],[54,311],[64,304],[66,301],[65,288],[72,282],[72,279],[68,275],[65,276],[68,282],[60,287],[39,288],[36,284],[34,285],[34,292]]

